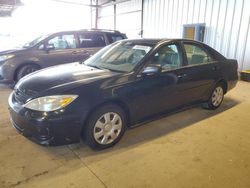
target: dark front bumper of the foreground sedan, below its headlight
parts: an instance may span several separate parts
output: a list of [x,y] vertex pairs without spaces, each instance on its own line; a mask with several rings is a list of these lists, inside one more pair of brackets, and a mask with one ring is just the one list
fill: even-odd
[[9,96],[13,127],[23,136],[41,145],[64,145],[80,141],[80,118],[65,109],[50,113],[29,110]]

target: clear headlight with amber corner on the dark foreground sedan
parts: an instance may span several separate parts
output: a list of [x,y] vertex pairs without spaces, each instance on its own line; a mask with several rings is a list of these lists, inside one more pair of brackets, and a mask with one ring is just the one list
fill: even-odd
[[61,109],[74,101],[78,95],[54,95],[33,99],[23,105],[32,110],[50,112]]

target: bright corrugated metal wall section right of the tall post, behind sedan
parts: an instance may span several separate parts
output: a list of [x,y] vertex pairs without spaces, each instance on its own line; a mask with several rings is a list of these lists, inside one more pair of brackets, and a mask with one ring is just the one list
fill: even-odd
[[249,0],[144,0],[144,37],[182,37],[183,24],[205,23],[205,43],[250,69]]

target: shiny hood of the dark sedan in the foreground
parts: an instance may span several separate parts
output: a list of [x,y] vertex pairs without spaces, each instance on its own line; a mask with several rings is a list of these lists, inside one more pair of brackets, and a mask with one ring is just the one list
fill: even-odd
[[93,68],[80,63],[69,63],[46,68],[22,78],[15,86],[28,96],[42,96],[70,90],[82,84],[114,76],[118,73]]

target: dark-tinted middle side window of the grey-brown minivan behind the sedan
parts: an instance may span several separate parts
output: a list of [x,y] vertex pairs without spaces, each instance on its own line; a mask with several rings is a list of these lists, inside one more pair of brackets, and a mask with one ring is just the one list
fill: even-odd
[[94,48],[106,46],[104,36],[101,34],[80,34],[80,48]]

